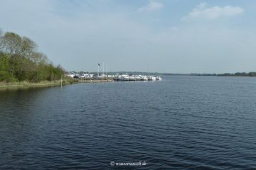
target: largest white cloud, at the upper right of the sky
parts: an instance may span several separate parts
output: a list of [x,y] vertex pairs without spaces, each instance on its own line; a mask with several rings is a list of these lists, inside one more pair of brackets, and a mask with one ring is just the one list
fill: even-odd
[[206,6],[206,3],[199,4],[196,8],[193,8],[193,11],[188,13],[188,16],[181,18],[181,21],[190,21],[193,19],[215,20],[220,17],[237,16],[245,11],[240,6],[213,6],[210,8],[206,8]]

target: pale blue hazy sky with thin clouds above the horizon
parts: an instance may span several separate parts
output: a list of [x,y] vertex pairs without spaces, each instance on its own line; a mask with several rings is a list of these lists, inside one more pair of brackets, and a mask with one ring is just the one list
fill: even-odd
[[[256,72],[256,1],[1,0],[0,28],[71,71]],[[102,68],[100,68],[102,69]]]

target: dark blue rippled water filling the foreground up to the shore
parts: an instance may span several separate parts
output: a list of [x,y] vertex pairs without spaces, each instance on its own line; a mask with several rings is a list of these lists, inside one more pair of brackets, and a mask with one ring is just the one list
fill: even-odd
[[0,109],[0,169],[256,169],[254,78],[0,91]]

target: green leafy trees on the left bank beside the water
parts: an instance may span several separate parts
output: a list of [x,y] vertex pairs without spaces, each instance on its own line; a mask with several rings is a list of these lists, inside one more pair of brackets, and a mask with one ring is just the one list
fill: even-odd
[[46,55],[38,52],[36,42],[16,33],[0,30],[0,81],[53,81],[64,69],[55,67]]

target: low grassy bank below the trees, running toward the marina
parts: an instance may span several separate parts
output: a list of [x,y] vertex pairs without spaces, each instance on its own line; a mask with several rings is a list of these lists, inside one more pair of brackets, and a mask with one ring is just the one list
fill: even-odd
[[[100,82],[110,82],[112,79],[64,79],[63,86],[68,84],[78,84],[78,83],[100,83]],[[40,81],[37,83],[28,82],[28,81],[19,81],[19,82],[0,82],[0,90],[5,89],[26,89],[26,88],[36,88],[36,87],[47,87],[47,86],[61,86],[61,81]]]

